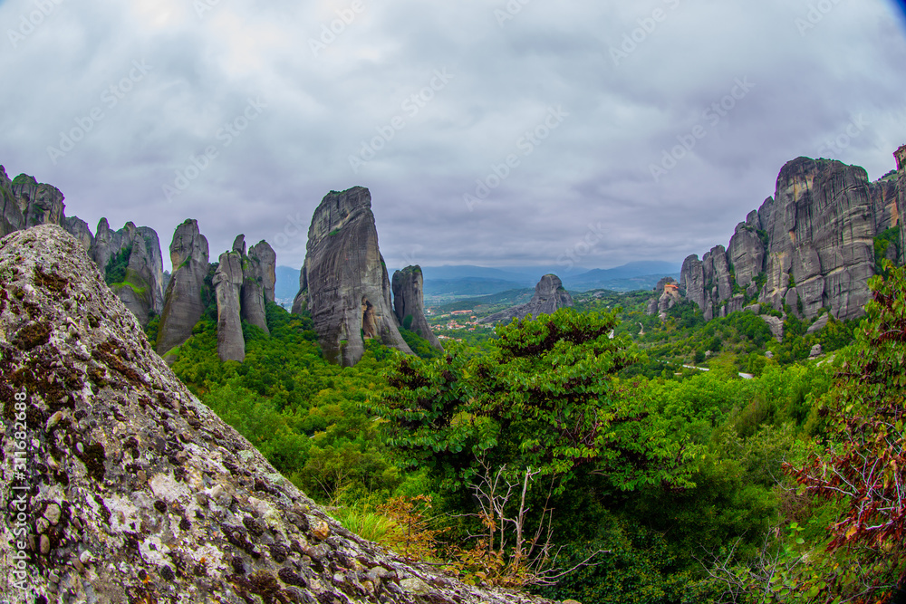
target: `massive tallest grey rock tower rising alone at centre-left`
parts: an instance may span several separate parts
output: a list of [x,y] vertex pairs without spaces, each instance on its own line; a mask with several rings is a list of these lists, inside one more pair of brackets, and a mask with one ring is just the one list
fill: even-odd
[[363,338],[411,354],[390,305],[390,278],[378,249],[371,193],[331,191],[315,209],[294,312],[312,314],[324,358],[349,367]]

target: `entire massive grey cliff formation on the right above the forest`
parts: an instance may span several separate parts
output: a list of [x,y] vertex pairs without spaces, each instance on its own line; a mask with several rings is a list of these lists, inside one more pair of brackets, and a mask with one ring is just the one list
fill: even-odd
[[[906,205],[906,147],[896,156],[897,173],[874,183],[863,168],[839,161],[788,162],[774,197],[737,225],[728,250],[718,245],[700,261],[685,260],[680,292],[705,319],[750,302],[805,319],[822,308],[837,319],[861,316],[874,274],[873,239],[899,225]],[[903,250],[903,229],[900,235]]]

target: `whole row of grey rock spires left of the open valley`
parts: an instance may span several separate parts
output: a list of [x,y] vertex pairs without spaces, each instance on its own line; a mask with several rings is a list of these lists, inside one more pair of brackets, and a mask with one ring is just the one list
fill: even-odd
[[[35,225],[62,226],[97,264],[111,290],[145,327],[159,315],[156,350],[169,354],[192,335],[212,302],[217,304],[220,360],[246,357],[242,321],[268,332],[266,303],[275,301],[276,254],[265,241],[246,249],[238,235],[231,250],[209,264],[207,238],[198,221],[178,225],[169,247],[173,273],[163,270],[158,234],[127,223],[113,231],[101,218],[95,233],[82,219],[65,216],[63,193],[34,177],[14,180],[0,167],[0,236]],[[424,315],[421,269],[410,266],[391,284],[371,213],[367,188],[332,191],[314,213],[294,312],[312,314],[325,357],[354,365],[364,339],[410,353],[400,334],[406,325],[440,349]]]

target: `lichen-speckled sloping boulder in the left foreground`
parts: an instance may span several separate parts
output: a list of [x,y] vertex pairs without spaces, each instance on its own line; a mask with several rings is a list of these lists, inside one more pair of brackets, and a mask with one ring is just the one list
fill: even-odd
[[0,523],[6,601],[538,601],[334,522],[179,382],[62,228],[6,238],[0,274],[0,426],[29,446],[16,475],[20,439],[0,440],[0,491],[23,514]]

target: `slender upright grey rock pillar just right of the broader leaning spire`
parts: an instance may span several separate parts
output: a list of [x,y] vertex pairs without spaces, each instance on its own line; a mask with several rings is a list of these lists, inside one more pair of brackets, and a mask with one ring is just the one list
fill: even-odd
[[240,292],[242,256],[238,252],[220,254],[214,273],[217,295],[217,356],[220,360],[246,360],[246,339],[242,335]]

